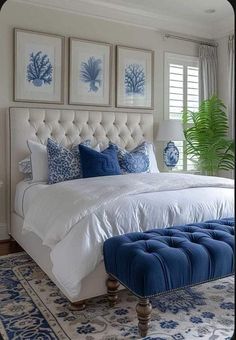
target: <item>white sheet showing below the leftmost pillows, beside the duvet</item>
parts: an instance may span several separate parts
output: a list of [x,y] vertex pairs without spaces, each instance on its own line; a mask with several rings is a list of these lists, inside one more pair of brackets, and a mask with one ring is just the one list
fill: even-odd
[[46,182],[20,181],[16,186],[15,212],[24,218],[34,196],[47,186]]

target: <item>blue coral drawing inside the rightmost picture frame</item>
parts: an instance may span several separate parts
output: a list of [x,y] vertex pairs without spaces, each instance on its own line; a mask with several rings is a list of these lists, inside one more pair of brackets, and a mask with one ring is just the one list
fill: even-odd
[[125,67],[125,93],[130,95],[144,95],[145,73],[140,64],[129,64]]

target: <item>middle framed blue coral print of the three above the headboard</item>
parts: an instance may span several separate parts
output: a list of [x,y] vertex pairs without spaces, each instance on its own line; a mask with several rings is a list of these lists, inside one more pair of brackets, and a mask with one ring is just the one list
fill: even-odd
[[112,45],[70,38],[69,104],[111,105]]

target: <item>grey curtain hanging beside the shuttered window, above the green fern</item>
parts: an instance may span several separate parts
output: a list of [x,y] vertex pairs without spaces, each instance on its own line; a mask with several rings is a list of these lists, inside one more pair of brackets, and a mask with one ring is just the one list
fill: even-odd
[[217,94],[217,48],[199,46],[199,95],[200,102]]

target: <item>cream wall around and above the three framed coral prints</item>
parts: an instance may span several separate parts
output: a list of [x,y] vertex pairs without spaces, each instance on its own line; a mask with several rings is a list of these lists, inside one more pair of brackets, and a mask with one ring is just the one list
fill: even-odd
[[[154,78],[154,123],[163,119],[163,77],[164,77],[164,51],[186,55],[197,55],[197,45],[165,39],[160,33],[134,26],[112,23],[100,19],[68,14],[61,11],[29,6],[20,3],[7,2],[0,12],[0,180],[4,186],[0,192],[0,238],[6,225],[6,131],[5,117],[9,106],[40,106],[76,108],[68,105],[67,93],[67,63],[65,74],[65,105],[27,104],[13,102],[13,28],[56,33],[66,37],[74,36],[84,39],[100,40],[113,44],[122,44],[155,51],[155,78]],[[68,41],[66,40],[66,60]],[[114,63],[113,63],[114,68]],[[113,72],[114,74],[114,72]],[[114,85],[111,108],[114,108]],[[77,106],[77,108],[79,108]],[[98,108],[100,110],[101,108]],[[124,110],[123,110],[124,111]],[[126,112],[130,110],[125,110]],[[162,159],[161,155],[159,160]],[[2,226],[2,227],[1,227]]]

